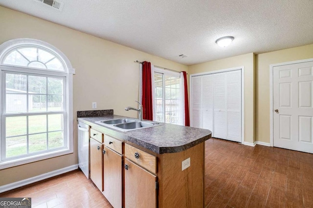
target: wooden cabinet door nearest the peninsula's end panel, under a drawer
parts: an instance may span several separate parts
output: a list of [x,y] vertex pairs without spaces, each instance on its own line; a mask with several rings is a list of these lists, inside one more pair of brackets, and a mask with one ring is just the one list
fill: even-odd
[[156,176],[128,159],[125,159],[125,208],[156,208]]

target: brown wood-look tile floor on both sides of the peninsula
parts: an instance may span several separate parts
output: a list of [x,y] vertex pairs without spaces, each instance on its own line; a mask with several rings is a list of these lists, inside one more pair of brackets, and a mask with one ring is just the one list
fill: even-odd
[[[208,208],[313,208],[313,154],[221,139],[205,142]],[[80,170],[10,190],[33,208],[111,208]]]

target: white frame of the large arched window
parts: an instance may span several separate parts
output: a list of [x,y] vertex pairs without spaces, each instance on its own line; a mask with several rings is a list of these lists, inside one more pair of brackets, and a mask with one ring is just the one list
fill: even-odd
[[[30,47],[38,47],[44,48],[45,50],[51,52],[56,57],[60,58],[62,61],[65,71],[56,71],[56,70],[47,70],[47,69],[38,69],[38,68],[31,68],[31,67],[22,67],[22,66],[12,66],[8,64],[2,64],[3,59],[9,54],[12,50],[20,48],[21,46],[30,46]],[[8,114],[12,113],[5,113],[4,109],[4,102],[5,102],[5,90],[2,75],[4,72],[8,73],[22,73],[27,75],[42,75],[42,76],[57,76],[57,77],[65,77],[65,86],[64,92],[66,100],[64,102],[64,111],[65,116],[64,119],[66,120],[64,125],[64,137],[66,139],[66,143],[64,144],[66,148],[63,149],[56,149],[55,151],[49,152],[42,152],[39,154],[33,155],[26,155],[24,157],[19,158],[12,158],[3,160],[3,152],[2,147],[5,144],[2,138],[5,139],[5,117]],[[65,154],[73,153],[73,74],[75,74],[75,69],[72,68],[72,65],[68,58],[56,47],[50,45],[44,41],[31,39],[31,38],[18,38],[6,41],[0,45],[0,114],[1,114],[1,125],[0,125],[0,170],[15,167],[27,163],[32,163],[48,158],[53,158]],[[28,113],[19,113],[23,115],[28,115]],[[36,114],[46,114],[46,113],[36,113]],[[5,152],[4,152],[5,153]]]

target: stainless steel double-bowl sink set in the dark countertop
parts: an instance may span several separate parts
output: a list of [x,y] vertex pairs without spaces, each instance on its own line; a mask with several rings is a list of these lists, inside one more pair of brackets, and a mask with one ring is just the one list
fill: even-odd
[[138,121],[128,118],[95,121],[95,123],[105,127],[111,127],[122,132],[164,125],[164,123],[158,123],[154,121]]

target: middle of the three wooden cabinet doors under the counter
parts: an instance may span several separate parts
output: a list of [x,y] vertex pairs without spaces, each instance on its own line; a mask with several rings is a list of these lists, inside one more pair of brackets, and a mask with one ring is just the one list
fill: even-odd
[[122,155],[104,147],[103,195],[114,208],[122,207]]

